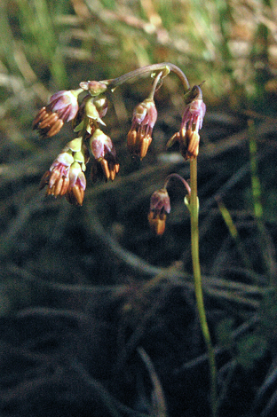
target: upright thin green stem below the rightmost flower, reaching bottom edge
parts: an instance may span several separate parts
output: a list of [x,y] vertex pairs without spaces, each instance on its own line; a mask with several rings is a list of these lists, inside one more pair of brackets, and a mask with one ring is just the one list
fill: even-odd
[[190,216],[191,216],[191,240],[192,240],[192,259],[194,268],[194,290],[196,297],[197,311],[199,314],[202,335],[207,346],[210,365],[211,382],[211,409],[212,416],[218,414],[218,394],[217,394],[217,368],[215,353],[210,340],[210,331],[206,318],[206,311],[203,301],[202,277],[199,262],[199,231],[198,231],[198,197],[197,197],[197,159],[190,161]]

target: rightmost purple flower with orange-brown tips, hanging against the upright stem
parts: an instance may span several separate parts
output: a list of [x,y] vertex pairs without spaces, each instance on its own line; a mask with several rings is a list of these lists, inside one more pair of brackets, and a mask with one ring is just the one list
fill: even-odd
[[180,153],[187,160],[198,155],[199,130],[202,128],[206,113],[206,106],[202,100],[202,90],[199,85],[194,85],[194,88],[186,93],[185,102],[186,107],[180,130],[170,138],[167,148],[178,142]]

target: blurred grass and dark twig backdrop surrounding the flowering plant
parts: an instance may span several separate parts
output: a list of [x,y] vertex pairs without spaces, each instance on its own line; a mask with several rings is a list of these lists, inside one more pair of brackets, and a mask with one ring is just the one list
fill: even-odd
[[109,102],[114,183],[93,185],[88,169],[82,208],[38,191],[75,137],[69,125],[51,139],[32,130],[51,94],[167,61],[205,82],[200,256],[219,414],[275,415],[277,4],[2,0],[0,45],[0,413],[210,415],[181,183],[162,237],[147,224],[167,175],[189,178],[178,147],[165,150],[184,110],[178,77],[157,91],[143,161],[126,137],[150,78]]

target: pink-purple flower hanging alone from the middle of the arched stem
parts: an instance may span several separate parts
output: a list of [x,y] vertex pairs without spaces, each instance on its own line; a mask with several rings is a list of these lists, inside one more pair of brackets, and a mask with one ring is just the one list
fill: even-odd
[[142,160],[152,142],[152,131],[157,120],[157,110],[152,98],[146,98],[136,106],[131,130],[127,136],[127,146],[132,156],[139,156]]

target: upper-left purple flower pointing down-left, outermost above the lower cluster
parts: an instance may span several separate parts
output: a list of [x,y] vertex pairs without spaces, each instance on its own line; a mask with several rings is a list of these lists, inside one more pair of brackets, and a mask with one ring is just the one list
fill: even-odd
[[49,104],[36,114],[33,129],[38,130],[44,138],[56,135],[65,122],[75,118],[79,93],[80,90],[61,90],[53,94]]

